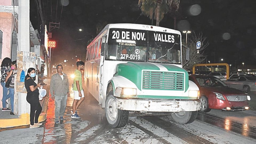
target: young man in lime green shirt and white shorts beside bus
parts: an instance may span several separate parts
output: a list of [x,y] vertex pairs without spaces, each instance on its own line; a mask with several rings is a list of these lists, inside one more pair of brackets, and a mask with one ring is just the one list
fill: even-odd
[[73,110],[71,111],[71,118],[80,118],[77,114],[77,108],[81,104],[81,102],[85,99],[85,95],[83,93],[82,87],[82,73],[85,67],[85,63],[82,61],[77,62],[77,69],[74,72],[75,78],[73,82],[73,91],[74,91],[74,102],[73,102]]

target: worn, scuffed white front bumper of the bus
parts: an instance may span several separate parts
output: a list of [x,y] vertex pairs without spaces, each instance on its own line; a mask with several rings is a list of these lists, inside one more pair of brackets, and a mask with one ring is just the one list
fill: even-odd
[[143,99],[116,99],[117,109],[150,112],[181,112],[200,110],[201,100],[157,101]]

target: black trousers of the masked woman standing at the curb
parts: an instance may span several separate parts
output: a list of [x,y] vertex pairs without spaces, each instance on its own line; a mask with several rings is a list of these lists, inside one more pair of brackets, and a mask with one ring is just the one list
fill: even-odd
[[42,106],[39,103],[39,99],[27,97],[27,102],[30,104],[30,125],[34,125],[34,123],[38,123],[38,118],[41,114]]

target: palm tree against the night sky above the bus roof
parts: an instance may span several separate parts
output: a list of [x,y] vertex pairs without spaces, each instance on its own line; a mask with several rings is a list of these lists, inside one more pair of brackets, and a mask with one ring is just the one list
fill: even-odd
[[151,25],[153,25],[153,18],[156,17],[156,26],[159,26],[159,22],[163,19],[164,14],[166,14],[171,9],[179,9],[180,0],[139,0],[139,7],[141,11],[147,17],[152,19]]

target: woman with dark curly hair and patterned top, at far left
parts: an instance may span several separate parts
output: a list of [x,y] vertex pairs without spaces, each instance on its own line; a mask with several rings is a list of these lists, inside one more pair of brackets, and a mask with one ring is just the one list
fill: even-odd
[[4,58],[1,64],[1,86],[3,87],[3,99],[2,99],[2,104],[3,104],[3,109],[2,111],[10,111],[11,109],[8,109],[6,107],[6,99],[10,98],[7,93],[8,93],[8,88],[5,87],[5,78],[7,77],[7,75],[9,74],[11,69],[11,59],[10,58]]

